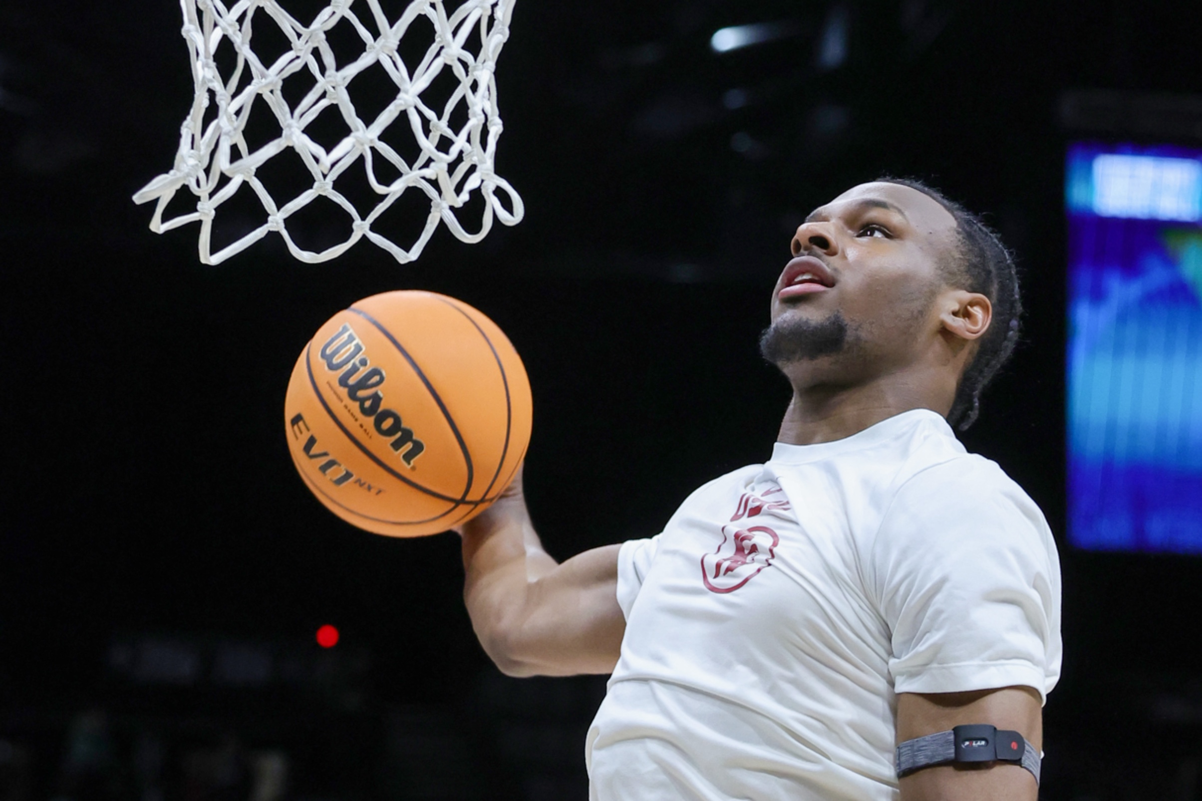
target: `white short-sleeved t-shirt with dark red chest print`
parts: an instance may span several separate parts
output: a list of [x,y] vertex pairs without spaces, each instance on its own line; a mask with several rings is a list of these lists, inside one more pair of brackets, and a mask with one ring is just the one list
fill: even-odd
[[623,545],[618,602],[594,801],[893,800],[897,693],[1060,675],[1043,515],[926,410],[706,484]]

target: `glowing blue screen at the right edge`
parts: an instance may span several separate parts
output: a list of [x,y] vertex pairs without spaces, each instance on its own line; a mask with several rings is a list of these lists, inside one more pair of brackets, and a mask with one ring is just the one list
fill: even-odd
[[1202,554],[1202,150],[1069,150],[1069,538]]

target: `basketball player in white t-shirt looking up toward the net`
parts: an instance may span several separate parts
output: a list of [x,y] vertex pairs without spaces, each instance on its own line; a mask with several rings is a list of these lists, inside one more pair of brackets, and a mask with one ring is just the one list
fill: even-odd
[[[1055,545],[951,428],[1013,349],[1013,263],[978,219],[892,179],[816,209],[792,252],[761,339],[793,388],[772,459],[698,489],[657,537],[563,564],[519,478],[462,531],[475,630],[510,675],[613,674],[585,743],[597,801],[1034,801]],[[1028,753],[910,743],[951,748],[966,724]],[[964,731],[965,754],[986,743]]]

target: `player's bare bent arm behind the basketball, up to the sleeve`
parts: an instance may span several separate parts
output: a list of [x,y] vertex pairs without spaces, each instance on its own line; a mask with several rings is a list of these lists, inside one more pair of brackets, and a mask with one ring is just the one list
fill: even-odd
[[464,600],[484,651],[511,676],[607,674],[626,622],[618,605],[618,549],[559,564],[526,512],[522,473],[462,526]]

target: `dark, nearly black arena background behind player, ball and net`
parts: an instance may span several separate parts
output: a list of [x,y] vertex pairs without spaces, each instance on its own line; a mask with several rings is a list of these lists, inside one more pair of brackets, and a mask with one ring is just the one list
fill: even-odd
[[[758,22],[795,32],[709,48]],[[548,550],[649,536],[770,453],[789,394],[755,342],[790,237],[882,173],[987,211],[1020,258],[1024,341],[963,438],[1061,544],[1042,797],[1202,797],[1202,563],[1063,537],[1064,148],[1202,141],[1196,2],[522,0],[498,172],[526,217],[407,265],[268,237],[207,267],[195,226],[147,229],[130,196],[191,101],[179,25],[149,0],[0,6],[0,797],[249,797],[274,758],[292,799],[585,797],[603,680],[501,677],[457,538],[363,533],[309,495],[291,365],[361,297],[462,298],[526,364]]]

